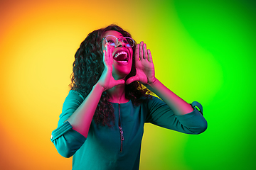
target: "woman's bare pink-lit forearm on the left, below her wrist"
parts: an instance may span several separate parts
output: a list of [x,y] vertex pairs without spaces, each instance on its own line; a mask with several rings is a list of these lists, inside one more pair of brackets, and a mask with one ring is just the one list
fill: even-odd
[[97,108],[97,104],[100,101],[100,97],[103,92],[103,87],[99,84],[93,86],[90,94],[85,98],[77,110],[68,118],[70,125],[73,126],[73,130],[80,132],[80,134],[87,137],[90,124],[92,122],[93,115]]

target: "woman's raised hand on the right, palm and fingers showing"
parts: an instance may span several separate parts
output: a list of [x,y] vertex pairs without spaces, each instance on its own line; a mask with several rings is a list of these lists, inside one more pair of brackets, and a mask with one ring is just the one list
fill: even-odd
[[151,52],[149,49],[146,50],[146,44],[143,41],[136,46],[135,67],[136,75],[127,79],[126,84],[139,81],[146,85],[153,84],[156,81]]

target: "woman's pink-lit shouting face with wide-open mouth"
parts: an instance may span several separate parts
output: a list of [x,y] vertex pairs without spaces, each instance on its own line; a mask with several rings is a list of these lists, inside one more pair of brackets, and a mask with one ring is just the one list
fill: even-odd
[[[118,39],[118,44],[116,46],[110,45],[112,48],[112,57],[113,57],[113,72],[112,75],[114,79],[125,79],[125,77],[131,72],[132,69],[132,56],[133,51],[131,47],[126,47],[125,43],[122,42],[124,36],[115,31],[108,30],[105,32],[103,37],[107,35],[114,35]],[[105,50],[106,41],[102,42],[102,49]]]

